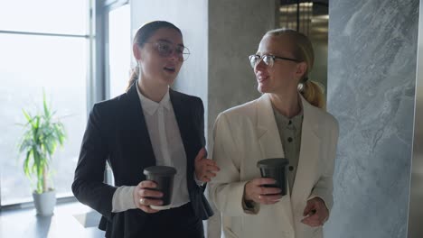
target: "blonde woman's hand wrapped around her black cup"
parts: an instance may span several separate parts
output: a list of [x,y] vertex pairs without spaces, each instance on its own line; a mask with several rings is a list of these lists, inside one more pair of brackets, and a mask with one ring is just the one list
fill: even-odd
[[274,185],[273,178],[254,178],[245,184],[244,199],[258,204],[276,204],[282,196],[280,188],[267,188],[264,185]]

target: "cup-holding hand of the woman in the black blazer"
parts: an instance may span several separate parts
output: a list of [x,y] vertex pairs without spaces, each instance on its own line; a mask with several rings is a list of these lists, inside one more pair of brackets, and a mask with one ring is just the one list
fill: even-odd
[[156,213],[159,210],[151,208],[151,206],[161,206],[163,201],[160,199],[163,197],[163,193],[154,190],[156,188],[154,181],[144,180],[140,182],[136,188],[134,188],[134,203],[136,207],[143,210],[146,213]]

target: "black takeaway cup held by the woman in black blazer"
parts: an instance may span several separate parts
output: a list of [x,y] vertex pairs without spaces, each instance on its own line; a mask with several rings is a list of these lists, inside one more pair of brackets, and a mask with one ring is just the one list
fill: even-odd
[[174,175],[176,169],[169,166],[151,166],[144,169],[144,174],[147,180],[155,181],[156,188],[150,188],[163,193],[161,200],[163,201],[162,206],[151,206],[156,210],[168,209],[172,202],[172,191],[174,190]]

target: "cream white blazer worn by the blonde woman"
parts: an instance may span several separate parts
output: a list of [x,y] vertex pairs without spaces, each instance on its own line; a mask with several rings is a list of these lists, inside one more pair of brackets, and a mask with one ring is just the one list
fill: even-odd
[[322,227],[302,224],[306,201],[321,197],[333,205],[333,173],[338,123],[331,114],[301,97],[304,120],[292,191],[274,205],[242,208],[245,184],[259,178],[258,160],[283,158],[272,105],[267,94],[219,114],[214,124],[212,159],[221,170],[209,183],[209,197],[221,211],[224,237],[322,238]]

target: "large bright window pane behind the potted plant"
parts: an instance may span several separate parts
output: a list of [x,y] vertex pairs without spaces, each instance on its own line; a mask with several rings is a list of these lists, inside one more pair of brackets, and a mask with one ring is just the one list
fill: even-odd
[[[67,131],[53,155],[57,197],[71,196],[71,182],[87,122],[88,2],[3,1],[0,8],[1,205],[32,200],[17,144],[22,109],[42,109],[42,90]],[[55,34],[55,35],[52,35]]]

